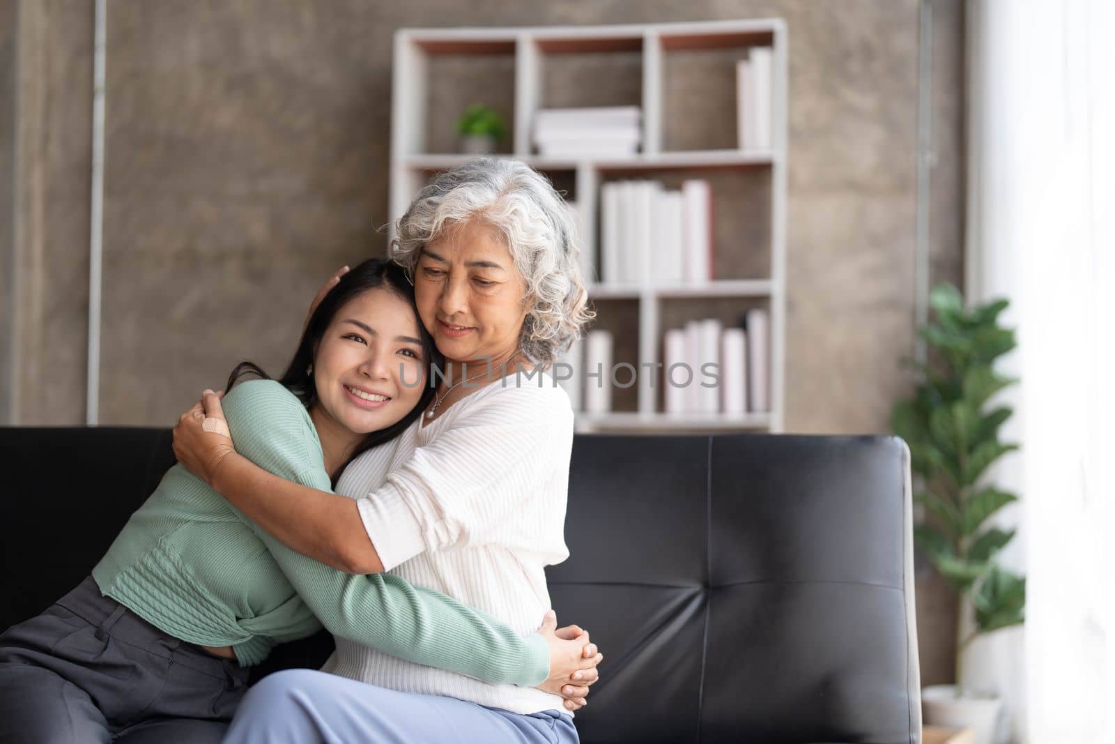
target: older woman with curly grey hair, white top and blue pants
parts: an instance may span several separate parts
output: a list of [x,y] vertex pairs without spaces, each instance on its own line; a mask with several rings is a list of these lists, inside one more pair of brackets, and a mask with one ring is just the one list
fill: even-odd
[[[389,571],[533,632],[550,608],[544,567],[569,557],[573,414],[549,369],[592,317],[574,226],[543,176],[476,158],[434,178],[397,228],[392,258],[446,364],[423,416],[345,470],[337,492],[350,497],[268,473],[200,416],[175,428],[175,452],[290,548],[353,573]],[[202,403],[222,416],[216,396]],[[602,658],[592,645],[585,655]],[[562,692],[583,705],[597,678],[575,673]],[[322,671],[252,688],[226,741],[576,742],[562,707],[537,688],[338,638]]]

